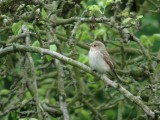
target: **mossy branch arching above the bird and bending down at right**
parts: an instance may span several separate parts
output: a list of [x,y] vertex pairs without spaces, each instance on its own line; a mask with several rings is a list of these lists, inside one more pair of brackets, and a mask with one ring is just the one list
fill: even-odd
[[[69,19],[58,18],[56,20],[56,22],[53,22],[52,24],[55,27],[58,25],[72,24],[73,22],[77,22],[77,24],[78,24],[78,22],[79,23],[87,23],[87,22],[92,22],[92,21],[93,21],[92,17],[89,17],[89,18],[71,17]],[[149,54],[145,50],[144,46],[141,44],[140,40],[135,35],[130,33],[127,28],[123,28],[123,26],[117,26],[116,24],[112,23],[110,19],[108,19],[106,17],[94,18],[94,21],[97,23],[105,23],[106,25],[115,28],[121,34],[121,36],[125,42],[128,42],[130,38],[133,38],[133,41],[135,41],[140,46],[144,56],[147,59],[149,59]]]

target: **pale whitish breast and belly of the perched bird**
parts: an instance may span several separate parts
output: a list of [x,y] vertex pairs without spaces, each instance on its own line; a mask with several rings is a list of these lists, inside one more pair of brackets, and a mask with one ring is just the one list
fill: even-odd
[[109,65],[104,60],[104,57],[100,51],[89,51],[89,64],[93,70],[100,73],[105,73],[110,70]]

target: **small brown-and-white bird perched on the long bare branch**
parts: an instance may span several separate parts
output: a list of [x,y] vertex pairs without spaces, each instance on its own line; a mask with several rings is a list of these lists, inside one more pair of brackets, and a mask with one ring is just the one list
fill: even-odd
[[109,53],[106,50],[105,45],[101,41],[94,41],[89,44],[89,64],[93,71],[97,71],[98,73],[105,74],[113,73],[113,75],[121,81],[119,76],[117,75],[113,62],[110,58]]

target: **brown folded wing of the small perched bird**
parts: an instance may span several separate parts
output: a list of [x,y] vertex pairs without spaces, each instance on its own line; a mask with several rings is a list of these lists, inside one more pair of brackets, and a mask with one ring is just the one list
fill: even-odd
[[111,58],[110,58],[108,52],[106,50],[103,50],[103,51],[101,51],[101,54],[102,54],[104,60],[106,61],[106,63],[110,66],[110,68],[113,69],[114,65],[111,61]]

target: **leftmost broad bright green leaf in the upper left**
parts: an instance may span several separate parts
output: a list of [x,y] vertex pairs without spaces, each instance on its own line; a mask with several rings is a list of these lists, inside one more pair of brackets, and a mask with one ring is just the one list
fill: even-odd
[[22,27],[22,21],[19,21],[17,23],[13,23],[13,25],[12,25],[12,32],[15,35],[20,34],[22,32],[21,27]]

